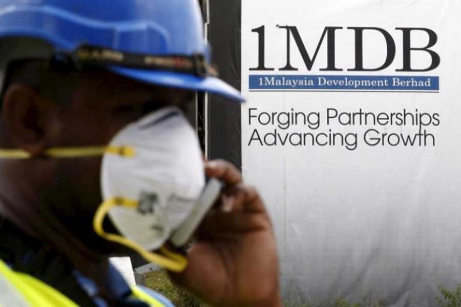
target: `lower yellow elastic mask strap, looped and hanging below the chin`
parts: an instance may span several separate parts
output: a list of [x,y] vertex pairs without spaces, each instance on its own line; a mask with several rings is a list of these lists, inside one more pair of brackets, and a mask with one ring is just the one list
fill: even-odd
[[134,200],[127,200],[122,198],[110,199],[99,206],[98,210],[93,219],[94,231],[102,238],[126,246],[139,255],[141,255],[146,261],[154,262],[155,264],[168,269],[173,272],[182,272],[187,266],[187,259],[180,255],[167,250],[165,247],[160,248],[163,255],[159,255],[153,252],[149,252],[140,245],[133,241],[117,234],[107,233],[102,228],[102,222],[104,217],[109,213],[109,210],[115,206],[122,206],[127,208],[135,209],[139,203]]

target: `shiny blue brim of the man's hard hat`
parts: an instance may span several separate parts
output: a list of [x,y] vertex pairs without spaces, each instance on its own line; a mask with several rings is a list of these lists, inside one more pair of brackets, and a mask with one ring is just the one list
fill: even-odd
[[215,77],[198,77],[175,72],[152,71],[112,66],[108,68],[118,75],[135,79],[144,83],[177,87],[180,89],[208,92],[233,100],[244,102],[245,98],[231,85]]

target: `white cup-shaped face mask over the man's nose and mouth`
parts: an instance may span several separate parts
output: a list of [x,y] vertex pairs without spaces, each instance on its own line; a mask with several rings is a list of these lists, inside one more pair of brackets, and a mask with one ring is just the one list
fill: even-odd
[[129,154],[104,153],[99,216],[108,212],[123,237],[103,232],[102,220],[96,231],[132,248],[135,243],[144,254],[157,250],[191,216],[202,195],[205,175],[196,133],[178,108],[166,107],[123,128],[109,148]]

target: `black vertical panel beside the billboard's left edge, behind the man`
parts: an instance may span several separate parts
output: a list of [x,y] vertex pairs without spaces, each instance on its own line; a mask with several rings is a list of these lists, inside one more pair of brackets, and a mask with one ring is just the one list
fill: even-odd
[[[221,79],[240,90],[241,0],[209,1],[209,42]],[[241,107],[210,95],[208,103],[208,158],[242,166]]]

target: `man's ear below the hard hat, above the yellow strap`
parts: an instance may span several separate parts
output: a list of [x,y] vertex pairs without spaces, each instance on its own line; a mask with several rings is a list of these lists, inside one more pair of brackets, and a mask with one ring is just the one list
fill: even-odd
[[45,122],[49,102],[30,86],[13,84],[3,99],[2,117],[9,138],[16,148],[39,156],[46,148]]

